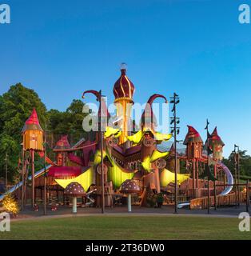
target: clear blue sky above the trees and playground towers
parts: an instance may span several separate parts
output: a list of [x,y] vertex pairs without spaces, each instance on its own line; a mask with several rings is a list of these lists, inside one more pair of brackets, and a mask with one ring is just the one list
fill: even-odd
[[209,118],[225,155],[234,143],[251,154],[251,25],[238,22],[244,1],[2,2],[11,24],[0,25],[0,94],[22,82],[48,109],[65,110],[88,89],[113,102],[126,62],[135,102],[180,95],[181,139],[187,124],[205,139]]

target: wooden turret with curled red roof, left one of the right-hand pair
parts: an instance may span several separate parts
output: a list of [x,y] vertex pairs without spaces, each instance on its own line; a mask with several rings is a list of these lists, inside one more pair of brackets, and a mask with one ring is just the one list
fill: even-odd
[[188,133],[183,143],[186,146],[186,155],[188,159],[202,157],[203,141],[200,134],[192,126],[188,126]]

